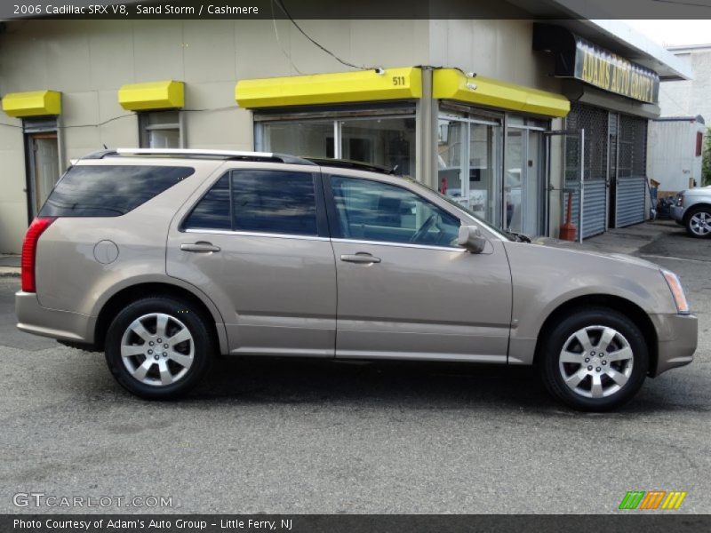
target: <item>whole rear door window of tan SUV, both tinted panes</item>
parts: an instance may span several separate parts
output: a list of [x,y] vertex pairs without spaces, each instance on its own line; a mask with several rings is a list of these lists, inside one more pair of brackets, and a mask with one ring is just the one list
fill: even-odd
[[183,227],[317,235],[314,177],[308,172],[232,171],[203,196]]

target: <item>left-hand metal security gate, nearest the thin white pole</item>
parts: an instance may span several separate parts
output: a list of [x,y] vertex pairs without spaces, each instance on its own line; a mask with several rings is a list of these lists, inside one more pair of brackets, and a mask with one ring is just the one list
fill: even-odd
[[[566,129],[583,130],[580,137],[565,138],[565,189],[573,195],[573,221],[580,226],[582,238],[604,233],[607,219],[607,160],[608,112],[598,107],[571,103],[571,113],[566,118]],[[579,179],[582,161],[583,179]],[[582,183],[583,216],[579,218],[580,184]],[[567,205],[563,195],[563,212]]]

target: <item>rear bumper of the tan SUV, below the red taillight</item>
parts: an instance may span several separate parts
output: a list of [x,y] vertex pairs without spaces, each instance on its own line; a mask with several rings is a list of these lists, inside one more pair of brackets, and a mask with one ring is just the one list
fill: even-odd
[[95,316],[40,306],[34,292],[20,290],[15,293],[15,314],[19,330],[77,343],[93,343]]

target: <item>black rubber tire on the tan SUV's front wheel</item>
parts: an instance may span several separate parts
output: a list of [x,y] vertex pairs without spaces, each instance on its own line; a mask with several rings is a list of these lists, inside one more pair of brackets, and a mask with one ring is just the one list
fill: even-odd
[[[619,336],[616,335],[613,338],[611,348],[603,351],[594,352],[597,349],[597,345],[592,346],[593,352],[589,354],[595,353],[595,356],[590,356],[582,350],[582,344],[577,342],[573,335],[580,330],[590,328],[590,330],[587,330],[589,332],[588,338],[593,344],[595,343],[597,332],[600,332],[601,337],[603,334],[603,329],[596,328],[597,326],[611,328],[617,331]],[[601,337],[597,338],[598,344],[603,342]],[[616,349],[619,350],[620,347],[624,346],[623,341],[625,340],[632,351],[632,363],[629,370],[627,370],[627,366],[623,366],[627,365],[627,361],[607,362],[606,360],[612,358],[611,352],[614,353]],[[626,315],[609,308],[594,307],[573,312],[558,322],[553,329],[548,330],[546,338],[542,338],[541,341],[539,373],[543,384],[556,399],[575,410],[603,412],[617,409],[632,399],[647,376],[649,351],[642,332],[635,325],[635,322],[632,322]],[[579,346],[580,354],[583,358],[580,363],[573,362],[569,364],[561,362],[563,347],[570,348],[571,346]],[[608,350],[611,350],[611,352]],[[577,350],[571,349],[570,351],[575,351],[577,354]],[[591,360],[592,365],[586,366],[589,364],[589,362],[585,362],[586,356]],[[578,370],[582,373],[589,373],[589,376],[579,382],[578,392],[575,392],[571,386],[565,384],[561,367],[563,367],[564,371],[570,372],[571,375]],[[592,370],[588,370],[590,368]],[[602,372],[597,369],[602,370]],[[611,370],[615,370],[616,373],[618,370],[629,371],[627,382],[619,386],[618,390],[614,390],[617,382],[607,374],[607,371]],[[595,372],[600,373],[600,378],[598,379],[602,378],[603,387],[608,387],[611,391],[610,395],[603,397],[585,397],[581,395],[592,394],[593,373]],[[589,392],[585,390],[588,384],[590,386]]]

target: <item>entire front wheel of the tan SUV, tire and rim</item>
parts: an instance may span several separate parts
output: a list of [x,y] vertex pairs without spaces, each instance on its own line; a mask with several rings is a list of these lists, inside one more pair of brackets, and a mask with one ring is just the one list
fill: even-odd
[[624,314],[581,310],[543,341],[539,371],[557,399],[577,410],[616,409],[639,390],[649,367],[642,332]]

